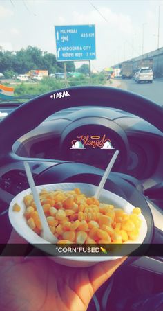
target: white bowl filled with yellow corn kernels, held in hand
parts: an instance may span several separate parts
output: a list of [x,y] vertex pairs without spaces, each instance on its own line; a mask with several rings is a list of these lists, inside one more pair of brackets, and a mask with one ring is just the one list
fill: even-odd
[[[102,190],[93,197],[97,186],[83,183],[46,184],[37,186],[48,226],[56,236],[57,245],[121,245],[142,244],[147,224],[140,207],[122,197]],[[41,221],[31,190],[19,193],[9,207],[9,219],[20,236],[44,250],[50,243],[41,237]],[[47,248],[46,248],[47,251]],[[57,263],[71,267],[88,267],[99,261],[119,256],[55,256],[52,245],[48,254]],[[128,254],[126,254],[128,255]]]

